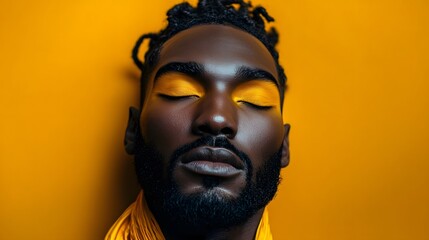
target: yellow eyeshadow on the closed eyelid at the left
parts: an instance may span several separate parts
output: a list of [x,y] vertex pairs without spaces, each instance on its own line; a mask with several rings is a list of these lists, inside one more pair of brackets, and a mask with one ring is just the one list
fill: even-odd
[[204,90],[195,79],[189,76],[181,73],[167,73],[156,80],[154,93],[172,97],[201,97],[204,94]]

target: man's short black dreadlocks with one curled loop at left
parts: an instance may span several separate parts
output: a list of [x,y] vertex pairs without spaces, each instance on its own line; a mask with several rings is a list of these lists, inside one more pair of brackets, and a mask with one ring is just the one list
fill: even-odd
[[[259,39],[274,58],[280,81],[281,99],[283,99],[287,78],[283,67],[279,64],[279,54],[275,49],[279,35],[274,27],[268,31],[265,30],[265,21],[273,22],[274,18],[268,15],[264,7],[253,7],[250,2],[244,0],[199,0],[196,7],[183,2],[167,11],[167,20],[167,27],[160,32],[142,35],[132,51],[134,63],[142,71],[140,104],[144,101],[145,81],[158,61],[162,45],[175,34],[202,24],[235,26]],[[138,54],[141,44],[146,39],[150,40],[149,48],[144,55],[144,61],[141,61]]]

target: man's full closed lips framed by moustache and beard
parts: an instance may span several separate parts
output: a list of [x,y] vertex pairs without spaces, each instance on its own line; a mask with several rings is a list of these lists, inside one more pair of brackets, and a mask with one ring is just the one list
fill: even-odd
[[242,173],[243,161],[226,148],[199,147],[181,157],[181,165],[188,171],[216,177],[232,177]]

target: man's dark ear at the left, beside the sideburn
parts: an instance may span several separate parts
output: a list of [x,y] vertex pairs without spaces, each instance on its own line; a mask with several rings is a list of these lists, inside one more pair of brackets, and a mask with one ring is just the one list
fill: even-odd
[[137,142],[140,137],[140,111],[137,108],[130,107],[128,126],[125,130],[125,151],[128,154],[135,154]]

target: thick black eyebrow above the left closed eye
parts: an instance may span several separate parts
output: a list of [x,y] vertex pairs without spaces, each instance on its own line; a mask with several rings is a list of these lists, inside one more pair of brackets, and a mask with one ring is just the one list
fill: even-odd
[[192,77],[201,78],[204,74],[204,66],[196,62],[171,62],[158,69],[155,74],[155,81],[162,75],[171,72],[179,72]]

